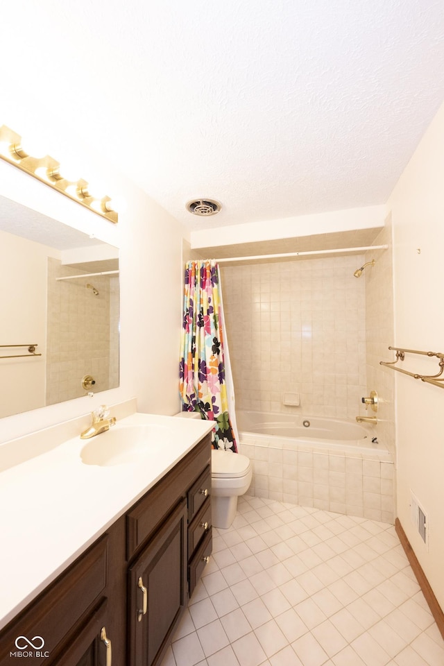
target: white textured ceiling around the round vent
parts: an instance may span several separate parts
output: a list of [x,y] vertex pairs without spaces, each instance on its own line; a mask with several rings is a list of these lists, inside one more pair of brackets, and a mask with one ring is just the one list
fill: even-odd
[[15,0],[0,30],[27,99],[194,229],[385,203],[444,96],[441,0]]

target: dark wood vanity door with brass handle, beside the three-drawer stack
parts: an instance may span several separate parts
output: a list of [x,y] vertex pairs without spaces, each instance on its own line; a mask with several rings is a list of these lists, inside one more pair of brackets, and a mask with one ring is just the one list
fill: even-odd
[[153,666],[187,604],[185,499],[130,567],[128,585],[130,666]]

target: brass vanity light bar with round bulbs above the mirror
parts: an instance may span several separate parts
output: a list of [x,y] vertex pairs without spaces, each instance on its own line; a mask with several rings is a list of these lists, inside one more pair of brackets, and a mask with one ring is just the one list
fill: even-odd
[[92,196],[88,190],[87,180],[82,178],[77,181],[67,180],[63,176],[60,162],[51,155],[44,157],[28,155],[22,147],[22,137],[6,125],[0,127],[0,157],[110,222],[116,224],[119,221],[110,196],[102,198]]

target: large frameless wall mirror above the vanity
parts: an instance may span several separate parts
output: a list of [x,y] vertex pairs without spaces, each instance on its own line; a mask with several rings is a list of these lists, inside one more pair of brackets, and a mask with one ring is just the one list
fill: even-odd
[[117,248],[0,196],[0,266],[0,418],[119,386]]

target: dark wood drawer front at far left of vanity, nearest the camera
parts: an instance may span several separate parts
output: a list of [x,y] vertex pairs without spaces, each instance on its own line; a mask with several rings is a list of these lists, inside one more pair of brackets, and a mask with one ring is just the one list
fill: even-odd
[[[40,636],[44,641],[39,664],[49,662],[58,646],[105,590],[107,584],[108,536],[103,536],[69,569],[37,597],[1,632],[0,664],[3,656],[17,650],[18,636]],[[30,649],[27,647],[26,649]],[[32,648],[31,648],[32,650]],[[8,659],[8,664],[10,659]]]

